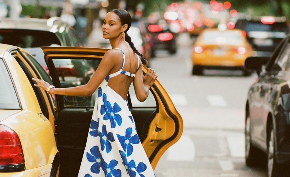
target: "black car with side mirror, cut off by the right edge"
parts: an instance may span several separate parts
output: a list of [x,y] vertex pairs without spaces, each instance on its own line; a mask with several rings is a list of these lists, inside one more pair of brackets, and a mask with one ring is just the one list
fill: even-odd
[[[245,67],[259,77],[245,107],[245,161],[268,162],[268,177],[289,176],[290,162],[290,35],[270,57],[249,57]],[[263,152],[267,159],[263,158]],[[265,156],[266,157],[266,156]]]

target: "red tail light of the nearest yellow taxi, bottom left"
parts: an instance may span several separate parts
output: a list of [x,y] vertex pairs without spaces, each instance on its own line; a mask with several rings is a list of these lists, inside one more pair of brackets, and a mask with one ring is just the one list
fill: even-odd
[[20,163],[24,163],[24,156],[18,135],[12,129],[0,125],[0,165]]

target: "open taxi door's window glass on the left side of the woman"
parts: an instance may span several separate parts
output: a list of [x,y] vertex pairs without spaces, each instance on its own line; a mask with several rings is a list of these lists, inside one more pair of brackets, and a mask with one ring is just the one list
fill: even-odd
[[[52,59],[60,87],[75,87],[85,85],[93,76],[100,60],[85,59]],[[65,107],[94,107],[97,92],[88,97],[63,96]]]

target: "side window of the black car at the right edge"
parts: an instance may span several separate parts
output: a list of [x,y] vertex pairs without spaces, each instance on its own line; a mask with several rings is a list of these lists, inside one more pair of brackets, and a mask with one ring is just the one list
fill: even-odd
[[280,51],[275,64],[272,67],[274,71],[287,71],[290,67],[290,43],[287,42],[283,49]]

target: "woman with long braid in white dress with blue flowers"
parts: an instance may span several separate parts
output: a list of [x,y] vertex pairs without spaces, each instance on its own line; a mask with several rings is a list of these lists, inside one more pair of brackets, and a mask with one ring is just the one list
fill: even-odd
[[103,37],[110,39],[112,49],[105,53],[86,85],[53,88],[47,82],[33,78],[37,82],[35,86],[50,94],[89,96],[98,89],[78,177],[155,176],[138,138],[126,99],[133,82],[136,97],[143,102],[157,75],[149,68],[143,76],[141,62],[146,60],[127,34],[130,26],[131,16],[126,10],[113,9],[105,16]]

